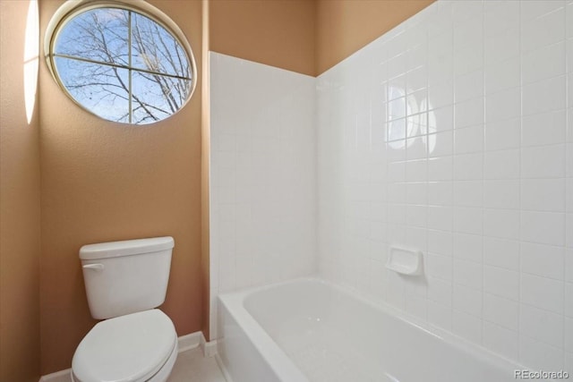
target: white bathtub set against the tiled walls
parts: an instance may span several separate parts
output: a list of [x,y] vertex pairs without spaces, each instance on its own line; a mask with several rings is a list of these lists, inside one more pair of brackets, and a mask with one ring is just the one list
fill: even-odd
[[219,297],[234,382],[515,381],[523,367],[319,279]]

